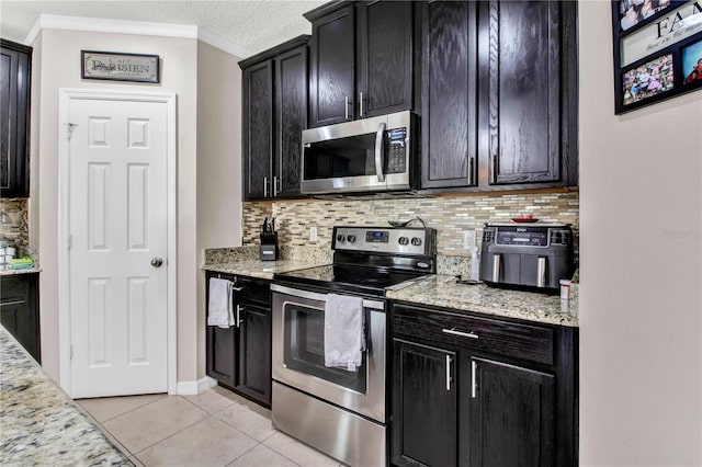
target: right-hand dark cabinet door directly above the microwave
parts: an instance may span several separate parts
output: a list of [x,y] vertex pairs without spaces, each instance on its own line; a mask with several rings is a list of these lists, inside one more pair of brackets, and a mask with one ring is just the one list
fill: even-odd
[[356,5],[356,14],[358,116],[411,109],[411,2],[361,2]]

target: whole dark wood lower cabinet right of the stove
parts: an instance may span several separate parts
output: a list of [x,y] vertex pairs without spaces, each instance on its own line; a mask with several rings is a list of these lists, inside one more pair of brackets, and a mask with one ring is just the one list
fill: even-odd
[[392,314],[393,465],[577,465],[577,330],[404,304]]

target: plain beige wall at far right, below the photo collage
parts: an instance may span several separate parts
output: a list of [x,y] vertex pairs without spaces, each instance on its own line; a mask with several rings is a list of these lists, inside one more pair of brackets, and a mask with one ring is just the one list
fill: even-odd
[[702,91],[614,115],[581,1],[580,465],[702,465]]

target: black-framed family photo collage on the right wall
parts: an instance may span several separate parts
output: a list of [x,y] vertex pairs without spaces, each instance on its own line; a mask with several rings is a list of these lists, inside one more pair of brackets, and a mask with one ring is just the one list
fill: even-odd
[[702,0],[612,0],[614,111],[702,88]]

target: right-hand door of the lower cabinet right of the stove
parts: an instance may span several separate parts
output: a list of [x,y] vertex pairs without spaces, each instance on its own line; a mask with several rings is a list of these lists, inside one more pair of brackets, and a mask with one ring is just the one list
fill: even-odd
[[469,465],[553,466],[554,376],[477,357],[471,365]]

